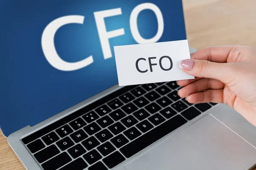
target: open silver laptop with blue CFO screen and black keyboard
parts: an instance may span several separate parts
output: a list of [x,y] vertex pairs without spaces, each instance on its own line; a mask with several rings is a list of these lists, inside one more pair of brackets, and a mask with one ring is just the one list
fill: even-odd
[[187,39],[181,0],[8,0],[0,8],[0,127],[26,169],[256,163],[256,127],[227,105],[191,104],[176,82],[117,85],[113,46]]

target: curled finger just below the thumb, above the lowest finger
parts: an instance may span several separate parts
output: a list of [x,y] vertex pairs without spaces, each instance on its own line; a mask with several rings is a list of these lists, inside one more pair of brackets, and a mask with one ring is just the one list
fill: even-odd
[[224,88],[224,83],[216,79],[203,78],[198,81],[192,82],[191,84],[183,87],[178,91],[178,95],[182,98],[189,96],[200,91],[207,89],[222,89]]

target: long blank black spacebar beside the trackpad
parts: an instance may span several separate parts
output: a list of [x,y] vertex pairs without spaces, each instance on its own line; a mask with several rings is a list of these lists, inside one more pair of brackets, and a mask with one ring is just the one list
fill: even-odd
[[168,133],[177,129],[181,125],[185,124],[187,121],[182,116],[177,115],[172,119],[164,122],[162,125],[148,131],[143,136],[140,136],[131,143],[125,145],[120,149],[120,151],[125,155],[126,158],[130,158],[134,154],[140,152],[145,147],[148,147],[152,143],[166,136]]

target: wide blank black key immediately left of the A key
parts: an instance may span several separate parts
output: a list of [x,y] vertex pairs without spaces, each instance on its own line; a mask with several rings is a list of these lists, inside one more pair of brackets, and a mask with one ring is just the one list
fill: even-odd
[[42,164],[42,167],[44,170],[57,170],[59,167],[62,167],[70,161],[72,161],[72,159],[66,152],[64,152]]

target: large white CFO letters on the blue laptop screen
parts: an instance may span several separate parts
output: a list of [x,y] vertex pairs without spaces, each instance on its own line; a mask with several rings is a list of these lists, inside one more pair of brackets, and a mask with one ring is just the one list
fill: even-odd
[[[158,29],[157,33],[154,35],[154,37],[150,39],[144,39],[138,30],[137,27],[137,17],[139,13],[145,9],[150,9],[154,12],[154,14],[157,17],[157,23],[158,23]],[[103,56],[104,59],[108,59],[112,57],[111,54],[111,47],[109,44],[109,39],[113,37],[118,37],[125,34],[124,28],[117,29],[114,31],[107,31],[105,26],[105,17],[112,17],[116,15],[121,15],[122,10],[121,8],[115,8],[105,11],[96,11],[94,12],[95,22],[98,29],[99,39],[102,46]],[[86,57],[85,59],[79,61],[79,62],[66,62],[63,59],[61,59],[60,56],[58,56],[57,51],[55,49],[54,45],[54,36],[56,31],[61,26],[64,26],[66,24],[83,24],[84,23],[84,16],[81,15],[69,15],[57,18],[53,20],[51,23],[49,23],[46,28],[44,29],[44,32],[42,34],[41,43],[42,48],[44,52],[44,56],[46,57],[47,61],[56,69],[61,71],[74,71],[78,70],[80,68],[84,68],[87,65],[90,65],[93,63],[93,55]],[[130,15],[130,28],[131,33],[134,38],[134,40],[139,43],[153,43],[157,42],[163,34],[163,15],[160,9],[154,5],[153,3],[142,3],[138,6],[136,6]]]

